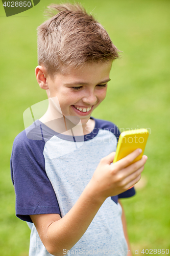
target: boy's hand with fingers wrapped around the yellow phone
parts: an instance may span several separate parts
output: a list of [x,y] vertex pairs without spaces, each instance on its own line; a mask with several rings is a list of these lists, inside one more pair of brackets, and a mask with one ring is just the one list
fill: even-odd
[[[128,156],[113,163],[115,152],[101,159],[96,168],[89,186],[92,189],[93,196],[105,200],[110,196],[116,196],[123,193],[128,188],[136,184],[141,177],[147,156],[130,164],[136,157],[140,155],[138,148]],[[129,165],[130,164],[130,165]]]

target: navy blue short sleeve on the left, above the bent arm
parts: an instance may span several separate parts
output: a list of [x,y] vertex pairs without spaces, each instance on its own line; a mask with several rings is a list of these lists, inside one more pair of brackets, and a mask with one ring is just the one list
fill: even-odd
[[30,215],[60,214],[57,198],[45,172],[44,140],[31,140],[21,132],[14,140],[11,178],[16,195],[16,216],[32,222]]

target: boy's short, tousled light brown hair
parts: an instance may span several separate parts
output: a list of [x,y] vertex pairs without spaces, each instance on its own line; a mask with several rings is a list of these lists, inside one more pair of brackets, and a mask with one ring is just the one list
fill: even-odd
[[79,4],[52,4],[46,13],[52,17],[37,28],[38,65],[52,78],[67,67],[119,57],[103,26]]

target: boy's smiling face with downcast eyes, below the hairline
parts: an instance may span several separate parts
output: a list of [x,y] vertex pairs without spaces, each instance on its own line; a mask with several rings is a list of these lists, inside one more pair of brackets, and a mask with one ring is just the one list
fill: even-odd
[[[112,61],[70,68],[58,73],[54,80],[46,77],[48,98],[59,100],[63,116],[78,116],[82,125],[105,99]],[[54,106],[51,108],[54,110]]]

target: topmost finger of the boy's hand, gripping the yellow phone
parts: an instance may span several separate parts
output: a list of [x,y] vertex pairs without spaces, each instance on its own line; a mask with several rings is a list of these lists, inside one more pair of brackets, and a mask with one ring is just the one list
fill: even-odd
[[130,153],[128,156],[118,160],[117,162],[114,163],[118,169],[123,169],[126,166],[130,165],[133,160],[135,160],[136,157],[138,157],[141,154],[141,149],[137,148],[137,150],[133,151]]

